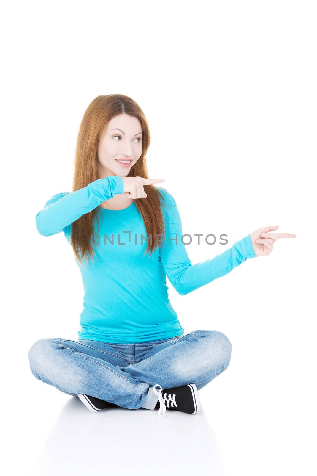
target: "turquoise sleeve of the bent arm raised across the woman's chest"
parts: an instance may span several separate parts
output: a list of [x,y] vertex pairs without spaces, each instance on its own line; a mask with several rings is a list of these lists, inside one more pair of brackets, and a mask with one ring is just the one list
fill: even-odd
[[99,178],[72,193],[58,193],[37,213],[37,231],[43,236],[65,232],[75,220],[120,193],[123,193],[123,180],[120,176]]

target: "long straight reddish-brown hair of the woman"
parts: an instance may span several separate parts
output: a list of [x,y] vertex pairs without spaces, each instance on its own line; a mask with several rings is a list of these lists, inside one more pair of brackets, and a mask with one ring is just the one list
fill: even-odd
[[[89,183],[99,179],[97,171],[98,147],[100,139],[107,127],[108,122],[119,114],[129,114],[140,120],[142,125],[142,154],[131,167],[127,177],[149,178],[146,165],[146,153],[150,144],[149,125],[140,106],[129,96],[122,94],[101,95],[93,99],[84,112],[81,121],[75,151],[75,166],[73,179],[73,192],[86,187]],[[164,219],[160,208],[160,198],[164,198],[154,185],[144,185],[147,198],[135,199],[145,225],[147,237],[152,235],[152,243],[148,239],[145,254],[160,246],[160,240],[165,243]],[[93,223],[100,213],[100,207],[94,208],[89,213],[75,220],[71,225],[70,244],[75,257],[81,261],[95,255],[91,238],[93,238]],[[159,237],[159,238],[157,238]],[[97,241],[96,241],[97,242]]]

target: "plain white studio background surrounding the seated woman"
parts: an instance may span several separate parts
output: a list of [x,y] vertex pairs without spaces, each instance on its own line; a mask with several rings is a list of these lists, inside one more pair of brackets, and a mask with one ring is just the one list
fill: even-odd
[[[11,473],[316,474],[316,11],[311,1],[11,2],[2,7],[2,427]],[[280,225],[269,257],[171,303],[224,332],[202,412],[92,414],[31,374],[42,337],[77,338],[83,284],[35,216],[71,191],[88,104],[121,93],[150,127],[150,178],[174,196],[195,264]],[[169,283],[168,283],[169,284]],[[115,411],[117,410],[117,411]]]

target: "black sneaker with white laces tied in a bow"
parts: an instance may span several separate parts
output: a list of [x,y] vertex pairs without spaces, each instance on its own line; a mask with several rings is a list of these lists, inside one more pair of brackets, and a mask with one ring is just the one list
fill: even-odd
[[[160,390],[157,391],[155,387],[160,387]],[[164,390],[159,384],[156,384],[153,389],[158,395],[158,402],[160,403],[158,415],[164,416],[166,410],[185,413],[198,413],[200,411],[198,390],[195,384],[165,388]]]

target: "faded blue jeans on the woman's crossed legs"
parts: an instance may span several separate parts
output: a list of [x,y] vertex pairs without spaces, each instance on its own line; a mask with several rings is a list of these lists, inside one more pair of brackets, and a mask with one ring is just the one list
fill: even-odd
[[232,345],[216,330],[135,344],[44,338],[28,351],[33,375],[62,392],[86,394],[124,408],[154,410],[163,389],[199,390],[229,365]]

